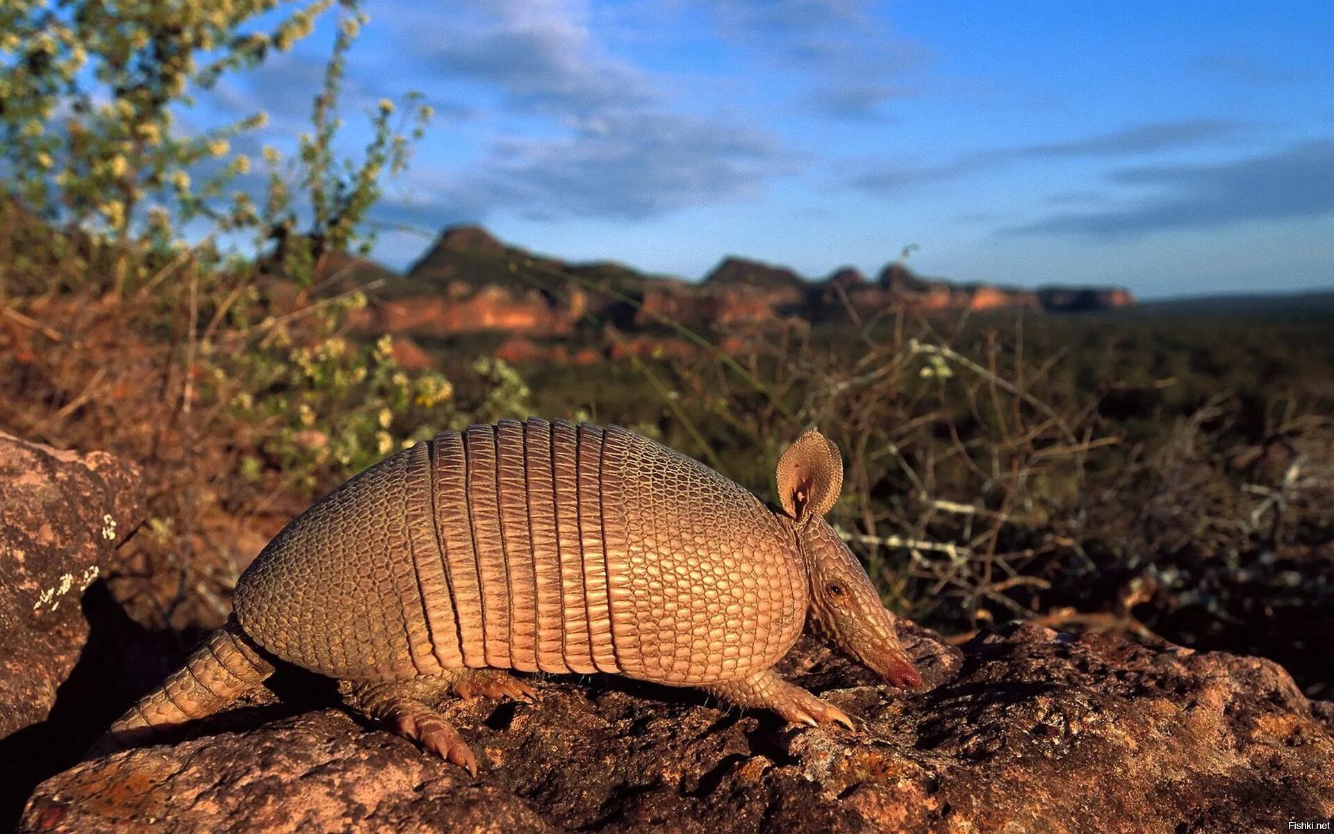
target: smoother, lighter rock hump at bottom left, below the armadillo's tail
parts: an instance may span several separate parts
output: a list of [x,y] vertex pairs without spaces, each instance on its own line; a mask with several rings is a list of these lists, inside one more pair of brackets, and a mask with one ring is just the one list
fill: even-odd
[[324,710],[115,755],[32,803],[36,831],[543,831],[510,791]]

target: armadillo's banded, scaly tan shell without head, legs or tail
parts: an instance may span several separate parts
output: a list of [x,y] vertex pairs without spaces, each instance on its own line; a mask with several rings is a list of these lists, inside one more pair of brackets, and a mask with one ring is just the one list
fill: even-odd
[[384,681],[463,667],[664,683],[766,669],[800,633],[795,539],[704,464],[612,426],[502,420],[348,480],[236,586],[275,655]]

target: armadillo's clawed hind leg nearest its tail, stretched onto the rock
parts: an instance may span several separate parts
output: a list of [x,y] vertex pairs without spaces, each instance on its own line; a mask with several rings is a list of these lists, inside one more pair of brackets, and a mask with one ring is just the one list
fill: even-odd
[[420,743],[447,762],[467,767],[478,775],[478,759],[459,731],[440,715],[432,703],[446,689],[436,678],[352,683],[343,681],[339,690],[354,710],[388,723],[404,738]]

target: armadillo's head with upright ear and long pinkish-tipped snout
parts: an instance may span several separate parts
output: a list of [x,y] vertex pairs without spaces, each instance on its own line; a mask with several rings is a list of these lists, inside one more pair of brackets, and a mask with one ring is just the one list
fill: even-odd
[[812,428],[787,447],[776,475],[779,500],[792,519],[810,576],[810,622],[894,686],[920,686],[922,675],[899,646],[894,615],[823,518],[843,486],[838,447]]

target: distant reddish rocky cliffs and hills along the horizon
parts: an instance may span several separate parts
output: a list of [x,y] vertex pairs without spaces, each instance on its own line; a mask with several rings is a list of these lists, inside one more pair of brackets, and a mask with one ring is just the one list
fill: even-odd
[[360,328],[418,336],[504,331],[522,338],[568,338],[607,324],[620,332],[652,331],[668,320],[732,334],[738,327],[866,320],[896,308],[1069,312],[1134,303],[1119,288],[1029,291],[928,280],[900,263],[886,266],[874,282],[851,267],[811,282],[787,267],[726,258],[703,280],[688,283],[615,263],[535,256],[476,226],[446,231],[404,276],[387,279],[380,296],[382,303],[359,314]]

